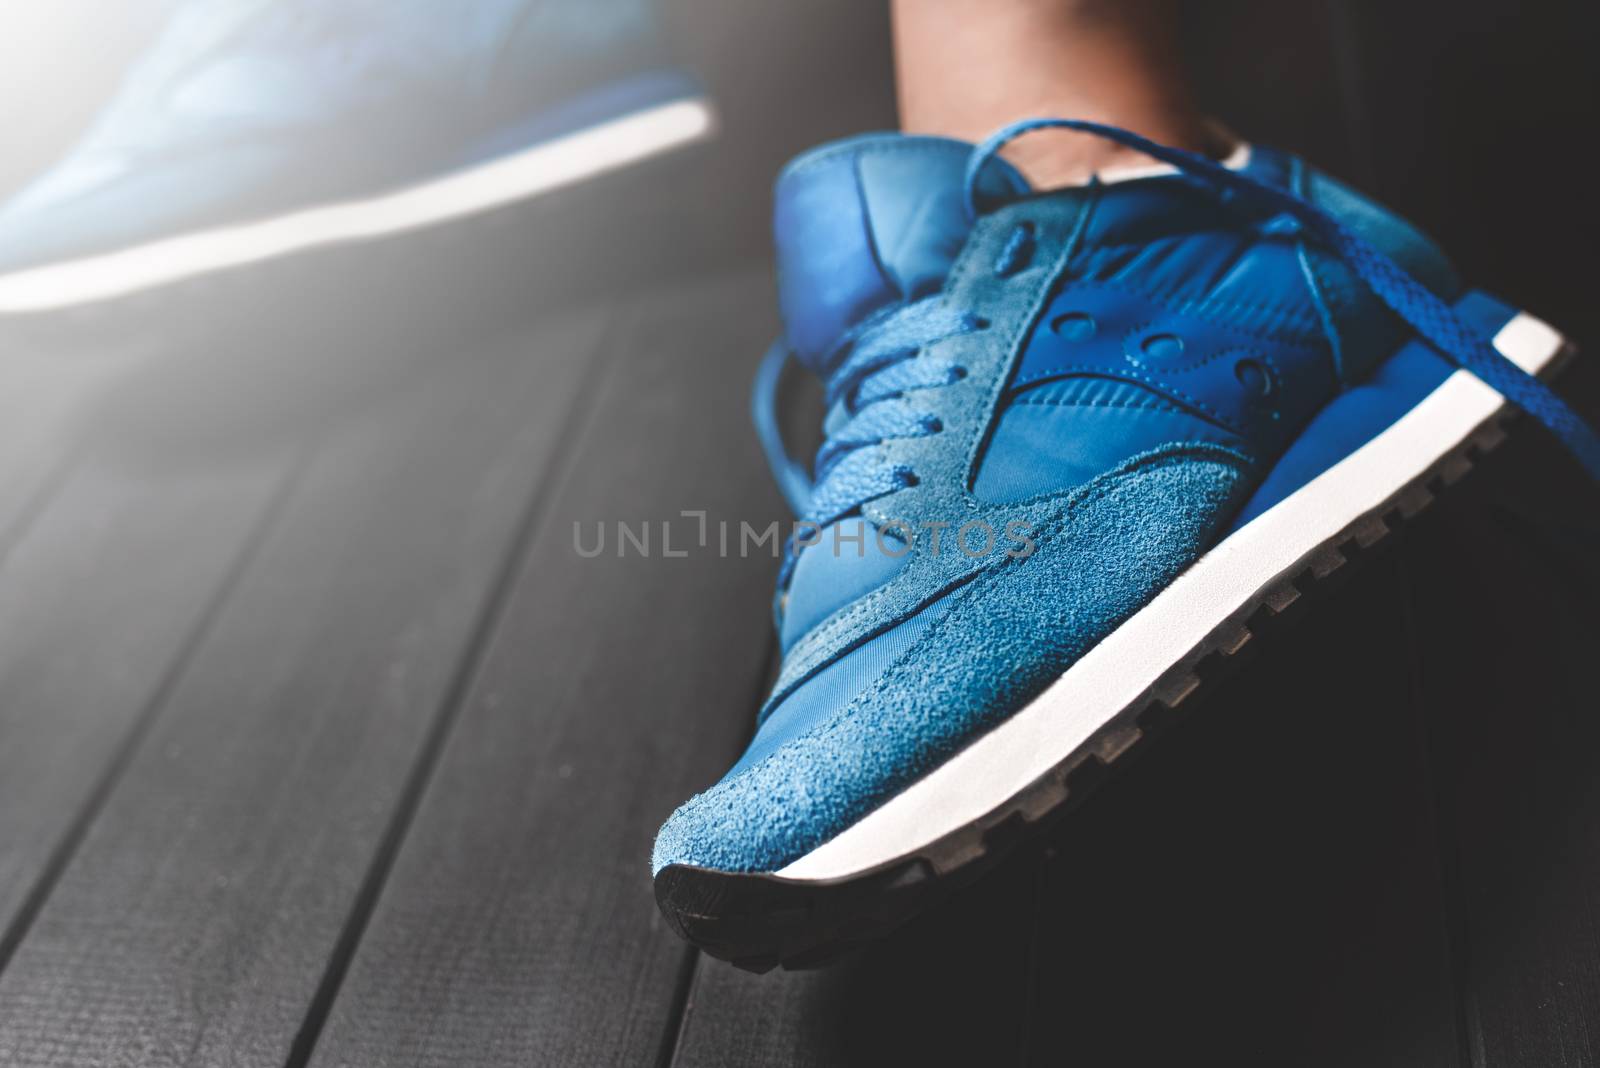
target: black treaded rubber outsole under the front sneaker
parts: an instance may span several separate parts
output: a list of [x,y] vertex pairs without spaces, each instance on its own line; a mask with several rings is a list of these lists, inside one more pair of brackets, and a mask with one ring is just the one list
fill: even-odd
[[[1571,355],[1565,347],[1552,363]],[[1019,844],[1045,838],[1115,767],[1144,751],[1181,718],[1197,692],[1238,668],[1253,638],[1270,635],[1346,579],[1504,438],[1510,406],[1485,420],[1419,478],[1266,584],[1211,630],[1154,686],[1112,716],[1051,771],[990,811],[912,855],[834,881],[784,879],[669,865],[656,875],[656,903],[683,938],[746,970],[826,964],[894,931],[995,867]]]

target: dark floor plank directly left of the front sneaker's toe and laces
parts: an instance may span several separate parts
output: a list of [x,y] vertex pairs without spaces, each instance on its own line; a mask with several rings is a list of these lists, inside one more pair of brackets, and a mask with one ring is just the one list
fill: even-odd
[[[611,341],[314,1065],[662,1055],[691,956],[651,902],[651,838],[734,756],[766,668],[776,561],[720,558],[717,523],[781,515],[747,425],[770,307],[762,275],[666,288]],[[574,524],[614,521],[648,521],[656,555],[618,558],[614,531],[576,555]]]

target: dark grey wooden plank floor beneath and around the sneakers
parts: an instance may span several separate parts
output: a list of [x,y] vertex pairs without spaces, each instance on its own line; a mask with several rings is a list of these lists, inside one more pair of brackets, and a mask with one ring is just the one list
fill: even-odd
[[[1587,8],[1192,6],[1210,106],[1600,347]],[[678,8],[707,147],[0,325],[0,1065],[1600,1063],[1600,496],[1531,427],[1048,852],[822,972],[666,929],[776,563],[574,524],[782,515],[768,182],[893,122],[877,5]]]

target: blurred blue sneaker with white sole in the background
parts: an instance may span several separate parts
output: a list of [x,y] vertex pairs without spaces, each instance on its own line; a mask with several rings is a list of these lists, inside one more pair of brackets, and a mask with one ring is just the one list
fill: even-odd
[[[82,142],[0,208],[0,312],[424,225],[702,136],[651,11],[184,0]],[[626,118],[571,158],[518,160]]]

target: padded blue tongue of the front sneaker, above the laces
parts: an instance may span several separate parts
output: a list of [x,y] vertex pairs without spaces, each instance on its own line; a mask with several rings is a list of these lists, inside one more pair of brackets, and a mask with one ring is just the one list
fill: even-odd
[[[966,243],[963,182],[973,145],[867,134],[790,163],[774,190],[778,302],[795,355],[813,371],[840,336],[888,304],[936,293]],[[1027,182],[994,158],[981,193]]]

